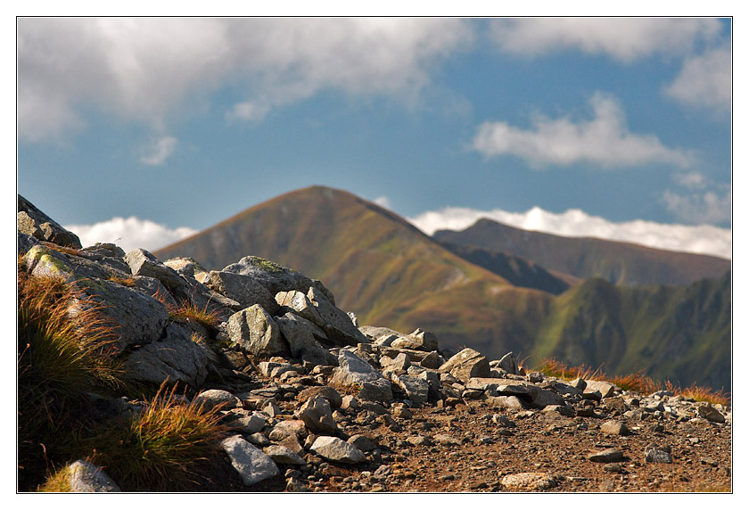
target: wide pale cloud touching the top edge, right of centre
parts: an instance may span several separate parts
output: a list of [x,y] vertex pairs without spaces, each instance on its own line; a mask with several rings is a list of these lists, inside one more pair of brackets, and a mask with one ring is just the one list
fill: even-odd
[[494,20],[491,36],[506,53],[538,56],[563,50],[632,62],[654,53],[686,54],[720,32],[716,19],[522,18]]

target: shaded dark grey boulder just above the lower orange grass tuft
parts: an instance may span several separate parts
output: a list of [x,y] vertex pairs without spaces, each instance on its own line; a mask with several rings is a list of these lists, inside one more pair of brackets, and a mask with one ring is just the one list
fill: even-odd
[[[124,362],[129,379],[140,382],[186,382],[198,388],[208,375],[205,348],[186,335],[184,328],[169,325],[167,337],[134,349]],[[186,336],[186,338],[185,338]]]

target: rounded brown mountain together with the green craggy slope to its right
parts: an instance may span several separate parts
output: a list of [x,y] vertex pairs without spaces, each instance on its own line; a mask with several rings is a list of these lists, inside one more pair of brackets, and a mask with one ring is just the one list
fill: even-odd
[[[572,286],[555,295],[538,288],[560,281],[547,267],[490,251],[482,253],[480,267],[391,211],[321,186],[243,210],[154,254],[191,257],[212,269],[247,255],[274,260],[322,281],[360,324],[421,327],[449,350],[470,346],[490,357],[512,350],[531,364],[552,356],[604,363],[607,374],[643,369],[672,382],[730,386],[726,273],[721,285],[706,280],[678,288],[567,281]],[[487,269],[492,259],[511,274]]]

